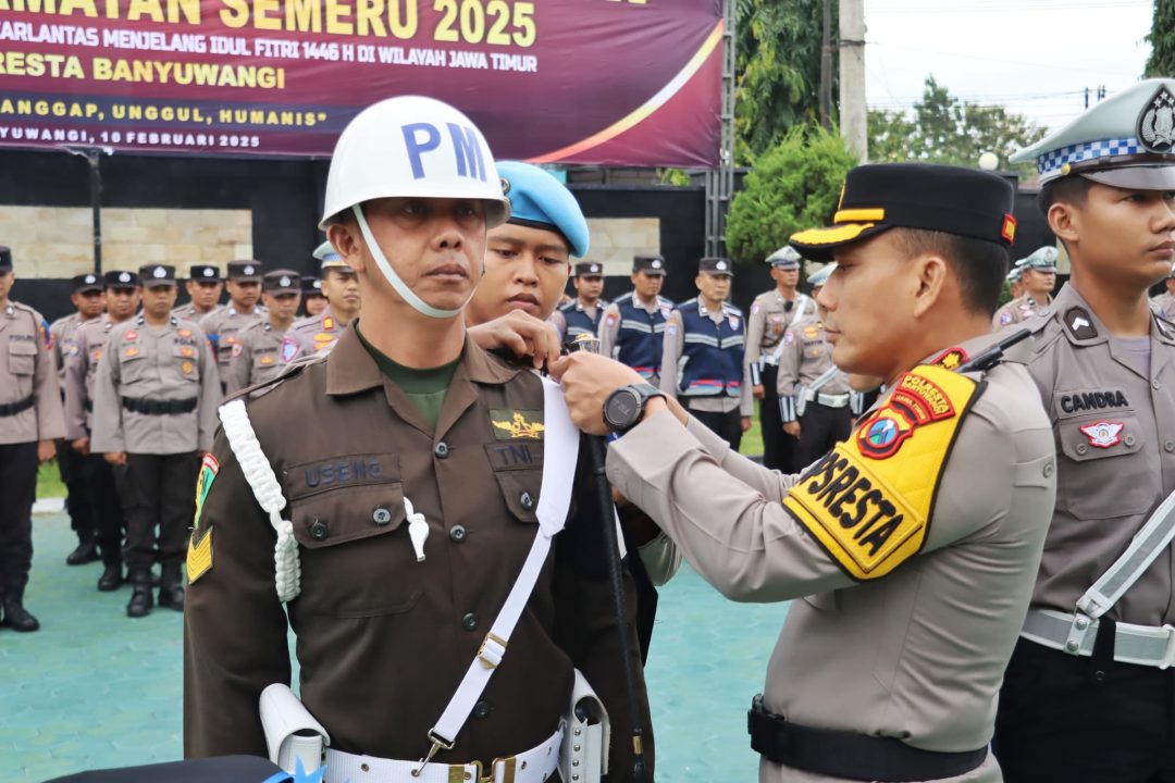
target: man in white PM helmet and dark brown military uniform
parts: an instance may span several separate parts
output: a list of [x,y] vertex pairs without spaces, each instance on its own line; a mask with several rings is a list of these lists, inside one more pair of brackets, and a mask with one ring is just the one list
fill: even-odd
[[579,436],[553,384],[465,331],[509,210],[445,103],[389,99],[341,135],[320,228],[364,306],[221,409],[188,548],[186,756],[325,764],[327,783],[651,768]]

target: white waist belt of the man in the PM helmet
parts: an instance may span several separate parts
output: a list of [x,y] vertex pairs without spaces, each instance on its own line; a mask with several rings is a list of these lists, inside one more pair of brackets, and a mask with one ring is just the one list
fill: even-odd
[[[442,764],[358,756],[327,750],[324,783],[546,783],[559,765],[563,725],[542,744],[516,756],[495,758],[483,772],[482,762]],[[419,770],[419,774],[416,774]]]

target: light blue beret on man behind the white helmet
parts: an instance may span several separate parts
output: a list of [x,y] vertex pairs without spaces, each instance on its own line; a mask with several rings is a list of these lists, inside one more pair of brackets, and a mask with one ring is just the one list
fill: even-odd
[[530,163],[498,163],[502,193],[510,200],[510,221],[562,234],[571,255],[588,255],[588,221],[566,185]]

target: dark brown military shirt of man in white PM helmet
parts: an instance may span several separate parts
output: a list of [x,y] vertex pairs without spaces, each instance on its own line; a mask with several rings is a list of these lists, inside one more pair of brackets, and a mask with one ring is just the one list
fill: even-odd
[[[184,755],[266,755],[257,698],[290,680],[288,613],[302,701],[331,748],[421,758],[536,534],[540,382],[466,340],[434,428],[347,329],[327,356],[295,364],[251,397],[249,418],[298,542],[302,588],[283,612],[274,531],[219,433],[219,473],[195,531],[213,535],[213,566],[190,583],[184,606]],[[577,475],[586,468],[580,457]],[[489,763],[546,740],[568,708],[575,666],[612,720],[611,779],[630,778],[606,549],[599,512],[584,505],[591,485],[580,480],[577,511],[503,662],[456,747],[437,761]],[[429,525],[423,562],[405,498]],[[631,649],[649,725],[634,635]],[[651,755],[651,736],[645,742]]]

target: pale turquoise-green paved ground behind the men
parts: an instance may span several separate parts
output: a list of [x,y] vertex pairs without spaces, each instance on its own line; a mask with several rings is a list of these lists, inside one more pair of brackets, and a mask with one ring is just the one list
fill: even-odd
[[[36,517],[28,607],[42,629],[0,630],[5,779],[180,758],[182,617],[129,620],[127,589],[94,589],[100,567],[67,567],[63,514]],[[646,676],[659,781],[752,781],[746,707],[761,690],[786,607],[731,603],[693,572],[662,590]]]

